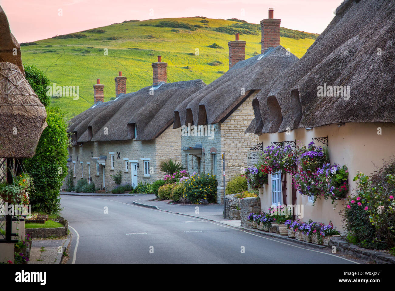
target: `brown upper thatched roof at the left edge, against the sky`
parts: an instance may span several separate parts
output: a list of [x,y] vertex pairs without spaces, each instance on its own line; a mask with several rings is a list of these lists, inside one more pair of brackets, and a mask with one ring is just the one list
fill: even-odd
[[[16,54],[15,54],[16,49]],[[4,13],[3,8],[0,6],[0,62],[8,62],[17,65],[21,70],[23,76],[24,69],[21,59],[21,46],[11,33],[9,29],[9,23]]]

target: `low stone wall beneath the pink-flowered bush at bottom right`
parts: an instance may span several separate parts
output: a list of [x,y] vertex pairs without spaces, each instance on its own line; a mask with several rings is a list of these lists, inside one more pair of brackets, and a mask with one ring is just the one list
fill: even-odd
[[346,242],[342,238],[331,238],[329,240],[329,247],[336,247],[337,252],[351,255],[363,261],[375,262],[376,264],[395,264],[395,257],[389,253],[381,251],[374,251],[372,249],[364,249]]

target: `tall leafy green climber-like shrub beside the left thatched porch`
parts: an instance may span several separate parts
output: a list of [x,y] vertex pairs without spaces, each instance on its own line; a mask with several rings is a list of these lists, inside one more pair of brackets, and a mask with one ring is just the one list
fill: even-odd
[[60,211],[59,191],[67,175],[67,147],[70,144],[67,121],[59,108],[48,108],[51,97],[46,95],[47,76],[35,66],[24,68],[26,79],[46,107],[48,124],[41,134],[36,154],[23,160],[26,171],[34,179],[30,202],[34,211],[55,214]]

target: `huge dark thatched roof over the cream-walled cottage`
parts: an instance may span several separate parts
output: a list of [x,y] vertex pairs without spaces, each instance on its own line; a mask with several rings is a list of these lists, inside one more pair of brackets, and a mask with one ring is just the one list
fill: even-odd
[[[343,2],[307,53],[253,100],[256,122],[246,132],[394,123],[394,39],[393,1]],[[318,97],[318,86],[349,86],[350,99]]]

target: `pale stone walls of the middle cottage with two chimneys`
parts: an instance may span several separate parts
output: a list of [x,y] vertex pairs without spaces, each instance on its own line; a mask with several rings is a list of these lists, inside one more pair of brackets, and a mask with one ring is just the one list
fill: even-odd
[[[217,173],[217,202],[222,203],[223,176],[222,176],[222,153],[225,153],[225,183],[241,172],[242,167],[247,167],[248,150],[259,143],[259,137],[255,134],[244,133],[251,120],[254,119],[254,109],[252,99],[258,91],[251,94],[239,108],[229,116],[224,123],[213,124],[214,138],[208,136],[182,136],[181,146],[190,147],[202,145],[204,152],[200,167],[198,158],[181,152],[181,159],[184,165],[188,164],[188,172],[209,172],[213,173],[212,150],[216,149],[216,173]],[[186,159],[188,157],[188,163]]]

